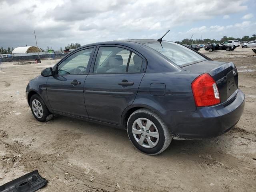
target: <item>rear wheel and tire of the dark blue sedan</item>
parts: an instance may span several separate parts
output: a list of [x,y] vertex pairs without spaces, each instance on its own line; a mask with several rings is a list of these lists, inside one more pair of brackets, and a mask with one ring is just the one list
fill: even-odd
[[[140,126],[137,122],[141,123]],[[151,126],[147,128],[147,125]],[[132,144],[142,153],[148,155],[162,153],[172,141],[166,124],[157,114],[148,109],[142,108],[133,112],[128,118],[126,128]],[[158,136],[158,138],[154,136]],[[141,140],[142,137],[144,140]]]

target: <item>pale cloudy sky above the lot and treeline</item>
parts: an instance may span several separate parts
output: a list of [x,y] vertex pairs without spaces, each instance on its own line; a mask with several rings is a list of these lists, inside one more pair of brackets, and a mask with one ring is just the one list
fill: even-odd
[[0,46],[256,34],[256,0],[0,0]]

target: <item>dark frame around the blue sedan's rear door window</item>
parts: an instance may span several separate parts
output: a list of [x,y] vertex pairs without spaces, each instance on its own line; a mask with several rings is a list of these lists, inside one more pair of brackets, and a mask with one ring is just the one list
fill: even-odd
[[[123,49],[126,49],[126,50],[130,51],[130,55],[132,54],[132,52],[134,52],[135,54],[137,54],[138,56],[140,56],[142,58],[142,65],[141,65],[141,68],[140,68],[140,72],[94,73],[93,70],[94,70],[94,66],[95,66],[95,63],[96,63],[96,58],[97,58],[98,51],[99,51],[100,47],[118,47],[118,48],[123,48]],[[130,55],[129,55],[129,58],[130,58]],[[130,62],[129,59],[128,59],[128,61]],[[94,56],[93,56],[93,59],[92,59],[91,65],[90,65],[89,74],[90,75],[100,75],[100,74],[137,74],[137,73],[139,74],[139,73],[145,73],[146,72],[147,65],[148,65],[148,62],[147,62],[146,58],[142,54],[140,54],[139,52],[137,52],[136,50],[134,50],[134,49],[132,49],[130,47],[123,46],[123,45],[117,45],[117,44],[101,44],[101,45],[97,45],[97,47],[96,47],[96,50],[94,52]],[[127,64],[127,66],[129,66],[129,63]],[[127,66],[126,66],[126,69],[127,69]]]

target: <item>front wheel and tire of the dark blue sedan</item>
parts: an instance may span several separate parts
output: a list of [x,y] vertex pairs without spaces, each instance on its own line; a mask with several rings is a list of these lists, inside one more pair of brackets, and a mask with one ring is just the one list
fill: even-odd
[[30,98],[30,109],[34,118],[40,122],[46,122],[53,118],[53,114],[49,112],[46,104],[38,94],[34,94]]

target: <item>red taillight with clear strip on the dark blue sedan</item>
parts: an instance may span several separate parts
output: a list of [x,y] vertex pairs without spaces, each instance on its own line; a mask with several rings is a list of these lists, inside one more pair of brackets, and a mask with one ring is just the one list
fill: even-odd
[[196,106],[212,106],[220,103],[216,82],[208,73],[198,76],[191,84]]

